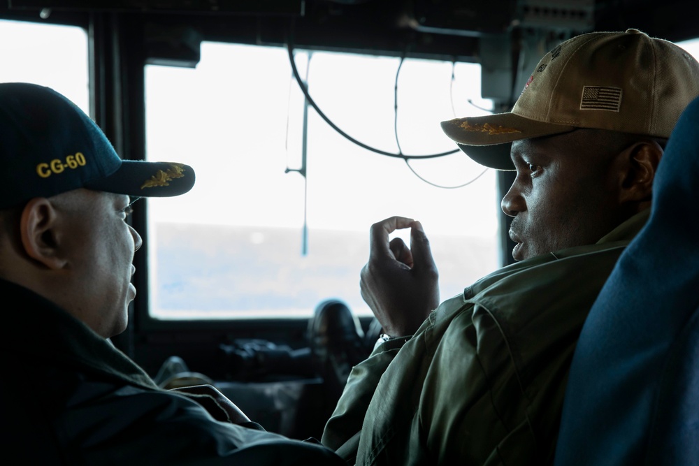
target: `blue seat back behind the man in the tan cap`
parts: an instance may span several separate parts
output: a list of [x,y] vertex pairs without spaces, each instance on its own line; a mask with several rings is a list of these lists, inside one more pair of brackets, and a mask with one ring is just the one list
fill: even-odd
[[572,359],[556,466],[699,465],[699,100]]

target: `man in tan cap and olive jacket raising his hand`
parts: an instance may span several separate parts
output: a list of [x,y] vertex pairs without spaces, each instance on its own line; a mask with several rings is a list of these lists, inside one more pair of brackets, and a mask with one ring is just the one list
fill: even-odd
[[[541,59],[511,112],[442,122],[479,163],[517,170],[502,207],[518,262],[439,304],[421,224],[373,225],[361,291],[385,335],[322,442],[356,465],[552,464],[582,323],[647,220],[698,77],[668,41],[584,34]],[[411,228],[410,249],[389,242],[397,228]]]

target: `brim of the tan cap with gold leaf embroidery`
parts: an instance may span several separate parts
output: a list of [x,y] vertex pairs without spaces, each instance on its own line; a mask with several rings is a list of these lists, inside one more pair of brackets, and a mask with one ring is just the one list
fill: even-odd
[[575,126],[538,122],[514,113],[454,118],[442,122],[442,131],[475,162],[496,170],[514,170],[512,142],[568,133]]

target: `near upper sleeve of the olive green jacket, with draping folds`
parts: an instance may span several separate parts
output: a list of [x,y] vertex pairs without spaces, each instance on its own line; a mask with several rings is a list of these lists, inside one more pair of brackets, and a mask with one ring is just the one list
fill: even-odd
[[498,321],[459,298],[422,330],[378,384],[356,464],[524,464],[535,439]]

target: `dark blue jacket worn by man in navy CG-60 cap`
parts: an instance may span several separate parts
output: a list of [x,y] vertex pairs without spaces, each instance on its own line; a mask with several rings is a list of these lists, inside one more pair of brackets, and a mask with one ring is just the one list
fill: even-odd
[[0,446],[25,465],[345,465],[319,444],[217,421],[64,310],[0,280]]

